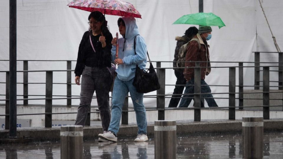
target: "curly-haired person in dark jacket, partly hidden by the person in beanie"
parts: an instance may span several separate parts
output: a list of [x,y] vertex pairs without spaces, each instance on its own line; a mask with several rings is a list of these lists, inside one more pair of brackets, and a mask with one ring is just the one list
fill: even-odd
[[[173,67],[174,67],[175,76],[177,77],[177,81],[168,107],[177,107],[182,95],[175,95],[175,94],[182,94],[186,85],[186,79],[183,74],[184,69],[177,68],[177,60],[178,60],[180,47],[186,44],[187,42],[189,42],[192,39],[192,37],[194,37],[196,34],[198,34],[198,29],[196,27],[189,27],[186,30],[185,35],[183,35],[182,37],[175,38],[175,40],[177,40],[177,46],[175,48]],[[187,104],[189,105],[190,103]]]

